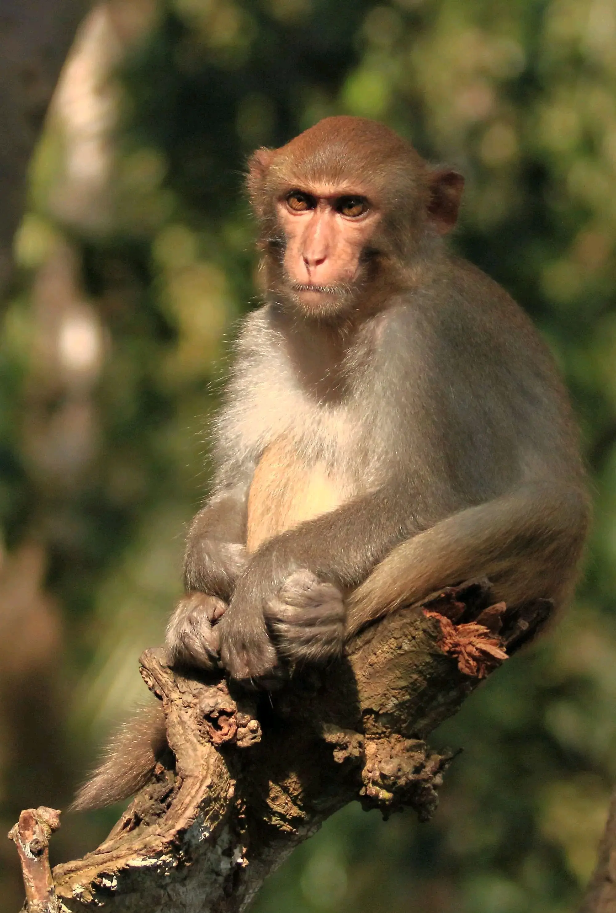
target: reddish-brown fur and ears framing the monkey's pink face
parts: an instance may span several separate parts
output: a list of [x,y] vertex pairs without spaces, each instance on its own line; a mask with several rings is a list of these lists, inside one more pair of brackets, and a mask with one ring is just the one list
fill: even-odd
[[395,269],[418,257],[426,240],[455,224],[463,179],[449,170],[430,170],[409,142],[365,118],[325,118],[280,149],[257,150],[250,158],[247,187],[260,222],[270,289],[281,290],[286,243],[277,203],[292,189],[318,186],[365,195],[377,207],[380,225],[366,247],[373,258]]

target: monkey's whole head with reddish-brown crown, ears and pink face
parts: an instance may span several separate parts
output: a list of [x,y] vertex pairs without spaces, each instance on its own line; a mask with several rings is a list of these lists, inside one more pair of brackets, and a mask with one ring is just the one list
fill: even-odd
[[250,158],[266,289],[282,305],[332,319],[361,308],[455,225],[463,178],[431,170],[377,121],[330,117]]

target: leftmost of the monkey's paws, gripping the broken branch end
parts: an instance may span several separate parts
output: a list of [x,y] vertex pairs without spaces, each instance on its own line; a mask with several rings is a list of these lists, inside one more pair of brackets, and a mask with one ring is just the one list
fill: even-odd
[[187,593],[175,607],[165,637],[171,666],[219,667],[218,619],[227,603],[206,593]]

